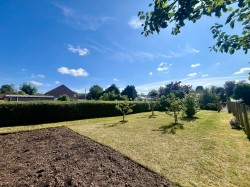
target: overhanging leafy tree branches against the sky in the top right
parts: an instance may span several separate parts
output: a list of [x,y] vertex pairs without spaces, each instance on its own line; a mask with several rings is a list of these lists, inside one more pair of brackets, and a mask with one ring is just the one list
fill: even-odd
[[[230,35],[223,32],[222,24],[216,23],[211,27],[213,38],[217,42],[211,50],[233,54],[236,50],[242,49],[245,53],[250,49],[250,11],[249,0],[153,0],[154,10],[138,13],[139,19],[143,20],[143,32],[145,36],[159,33],[160,29],[173,26],[171,34],[177,35],[180,29],[185,26],[185,21],[195,23],[203,16],[221,17],[229,13],[224,25],[234,28],[235,22],[242,25],[241,35]],[[172,24],[174,22],[174,24]]]

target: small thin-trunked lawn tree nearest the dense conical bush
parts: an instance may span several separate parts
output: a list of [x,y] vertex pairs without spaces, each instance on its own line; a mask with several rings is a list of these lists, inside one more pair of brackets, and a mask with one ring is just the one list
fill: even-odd
[[166,99],[169,103],[167,108],[167,114],[174,116],[174,124],[178,124],[178,115],[183,109],[183,102],[180,98],[176,97],[175,94],[170,93]]

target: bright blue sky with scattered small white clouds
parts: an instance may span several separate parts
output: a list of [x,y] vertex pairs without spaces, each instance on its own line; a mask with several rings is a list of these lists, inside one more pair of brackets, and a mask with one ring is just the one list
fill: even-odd
[[[210,27],[224,18],[142,36],[137,13],[151,0],[1,0],[0,85],[28,82],[45,93],[61,84],[84,92],[98,84],[139,93],[171,81],[222,86],[247,80],[249,54],[210,52]],[[238,29],[238,30],[237,30]],[[240,28],[228,30],[238,32]]]

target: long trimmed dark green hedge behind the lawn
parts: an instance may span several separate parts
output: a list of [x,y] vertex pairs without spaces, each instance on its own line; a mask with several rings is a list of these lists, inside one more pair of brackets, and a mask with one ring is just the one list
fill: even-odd
[[[145,102],[133,102],[133,113],[148,111]],[[0,127],[41,124],[122,115],[116,102],[2,102]]]

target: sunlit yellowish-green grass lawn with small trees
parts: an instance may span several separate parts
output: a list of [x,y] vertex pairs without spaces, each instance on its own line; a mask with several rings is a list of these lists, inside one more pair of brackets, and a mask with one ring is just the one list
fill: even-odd
[[28,127],[0,128],[0,133],[68,126],[108,145],[181,186],[250,186],[250,142],[232,130],[226,112],[200,111],[194,120],[164,112],[78,120]]

